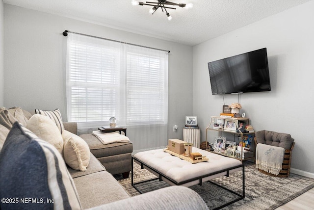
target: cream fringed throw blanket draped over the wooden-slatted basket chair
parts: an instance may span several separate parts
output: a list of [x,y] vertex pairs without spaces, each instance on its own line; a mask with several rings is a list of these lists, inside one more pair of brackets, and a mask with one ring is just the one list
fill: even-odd
[[271,174],[278,175],[282,170],[285,148],[267,144],[256,146],[256,168]]

